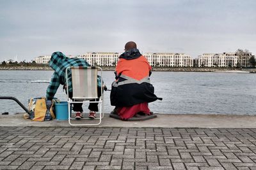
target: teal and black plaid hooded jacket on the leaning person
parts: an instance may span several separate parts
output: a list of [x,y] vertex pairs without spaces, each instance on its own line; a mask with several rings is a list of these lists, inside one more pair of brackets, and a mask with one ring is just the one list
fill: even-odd
[[[60,85],[66,84],[66,69],[70,66],[90,66],[84,59],[69,59],[61,52],[52,53],[49,66],[54,69],[51,82],[46,91],[46,98],[51,100],[56,94]],[[100,87],[101,78],[98,76],[98,86]],[[72,92],[71,71],[68,71],[68,92]]]

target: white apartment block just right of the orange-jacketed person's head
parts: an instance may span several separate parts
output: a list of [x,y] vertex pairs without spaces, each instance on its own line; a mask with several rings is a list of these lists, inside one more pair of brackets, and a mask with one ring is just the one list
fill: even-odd
[[144,53],[153,67],[193,67],[193,58],[184,53]]

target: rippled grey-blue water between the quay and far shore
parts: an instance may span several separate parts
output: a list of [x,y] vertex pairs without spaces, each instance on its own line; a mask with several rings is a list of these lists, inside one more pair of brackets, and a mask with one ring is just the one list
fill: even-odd
[[[28,106],[31,97],[44,97],[53,71],[0,71],[0,96],[12,96]],[[104,71],[110,89],[113,71]],[[153,72],[151,82],[163,101],[150,103],[155,113],[255,115],[256,74]],[[110,92],[104,92],[104,112],[113,110]],[[56,94],[67,100],[62,86]],[[0,100],[0,113],[24,112],[15,101]],[[84,111],[88,111],[84,106]]]

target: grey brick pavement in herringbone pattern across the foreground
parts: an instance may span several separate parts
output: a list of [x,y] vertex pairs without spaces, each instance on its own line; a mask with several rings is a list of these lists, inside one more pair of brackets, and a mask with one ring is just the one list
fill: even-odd
[[256,129],[0,127],[0,169],[256,169]]

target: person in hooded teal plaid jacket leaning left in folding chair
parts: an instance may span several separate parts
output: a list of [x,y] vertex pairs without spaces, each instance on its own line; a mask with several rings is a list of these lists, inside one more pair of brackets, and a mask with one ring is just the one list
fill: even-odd
[[[52,53],[51,60],[49,62],[49,66],[52,67],[54,73],[52,74],[52,78],[50,84],[46,90],[46,98],[47,100],[53,99],[54,95],[56,94],[58,87],[63,85],[63,89],[66,88],[66,69],[70,66],[85,66],[88,67],[90,64],[86,62],[84,59],[70,59],[66,57],[61,52],[54,52]],[[98,96],[100,97],[100,87],[101,87],[101,80],[100,76],[98,76]],[[68,72],[68,96],[72,98],[72,81],[71,81],[71,72]],[[83,103],[73,103],[73,110],[76,111],[76,119],[81,119],[83,108]],[[90,103],[88,109],[90,110],[89,117],[95,118],[95,111],[99,111],[98,103]]]

